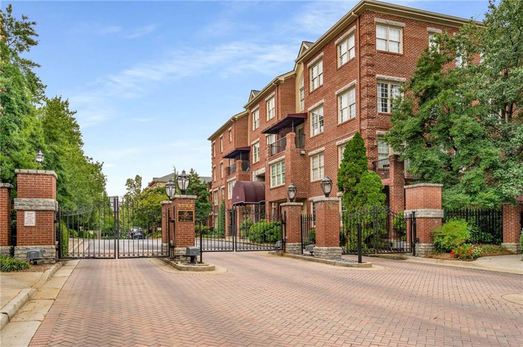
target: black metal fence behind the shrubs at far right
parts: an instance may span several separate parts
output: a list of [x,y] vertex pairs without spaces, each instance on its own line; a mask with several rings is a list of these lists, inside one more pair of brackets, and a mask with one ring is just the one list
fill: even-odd
[[501,209],[445,210],[443,221],[451,219],[464,219],[472,226],[471,243],[501,245],[503,242]]

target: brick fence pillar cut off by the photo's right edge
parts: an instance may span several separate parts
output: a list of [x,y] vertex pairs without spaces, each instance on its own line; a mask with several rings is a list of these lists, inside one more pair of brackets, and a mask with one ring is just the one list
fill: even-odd
[[519,253],[523,250],[519,243],[519,235],[523,228],[523,197],[516,199],[515,205],[503,204],[503,243],[508,250]]

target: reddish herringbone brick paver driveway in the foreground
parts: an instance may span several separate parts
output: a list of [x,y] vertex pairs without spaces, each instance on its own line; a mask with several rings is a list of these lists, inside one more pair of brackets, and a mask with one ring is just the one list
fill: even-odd
[[372,259],[347,269],[261,253],[205,254],[226,273],[83,260],[31,345],[521,346],[523,276]]

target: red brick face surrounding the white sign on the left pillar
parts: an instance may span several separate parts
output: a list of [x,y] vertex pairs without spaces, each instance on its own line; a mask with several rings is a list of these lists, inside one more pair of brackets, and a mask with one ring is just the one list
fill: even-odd
[[24,211],[16,211],[16,245],[54,245],[54,211],[36,211],[36,226],[24,226]]

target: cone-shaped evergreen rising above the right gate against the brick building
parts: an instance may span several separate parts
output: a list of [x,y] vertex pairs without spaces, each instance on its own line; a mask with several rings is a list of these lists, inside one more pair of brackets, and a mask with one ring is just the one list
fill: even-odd
[[383,205],[385,202],[381,178],[368,170],[369,160],[366,151],[360,133],[356,133],[347,142],[343,151],[337,185],[340,192],[343,192],[342,202],[347,211]]

